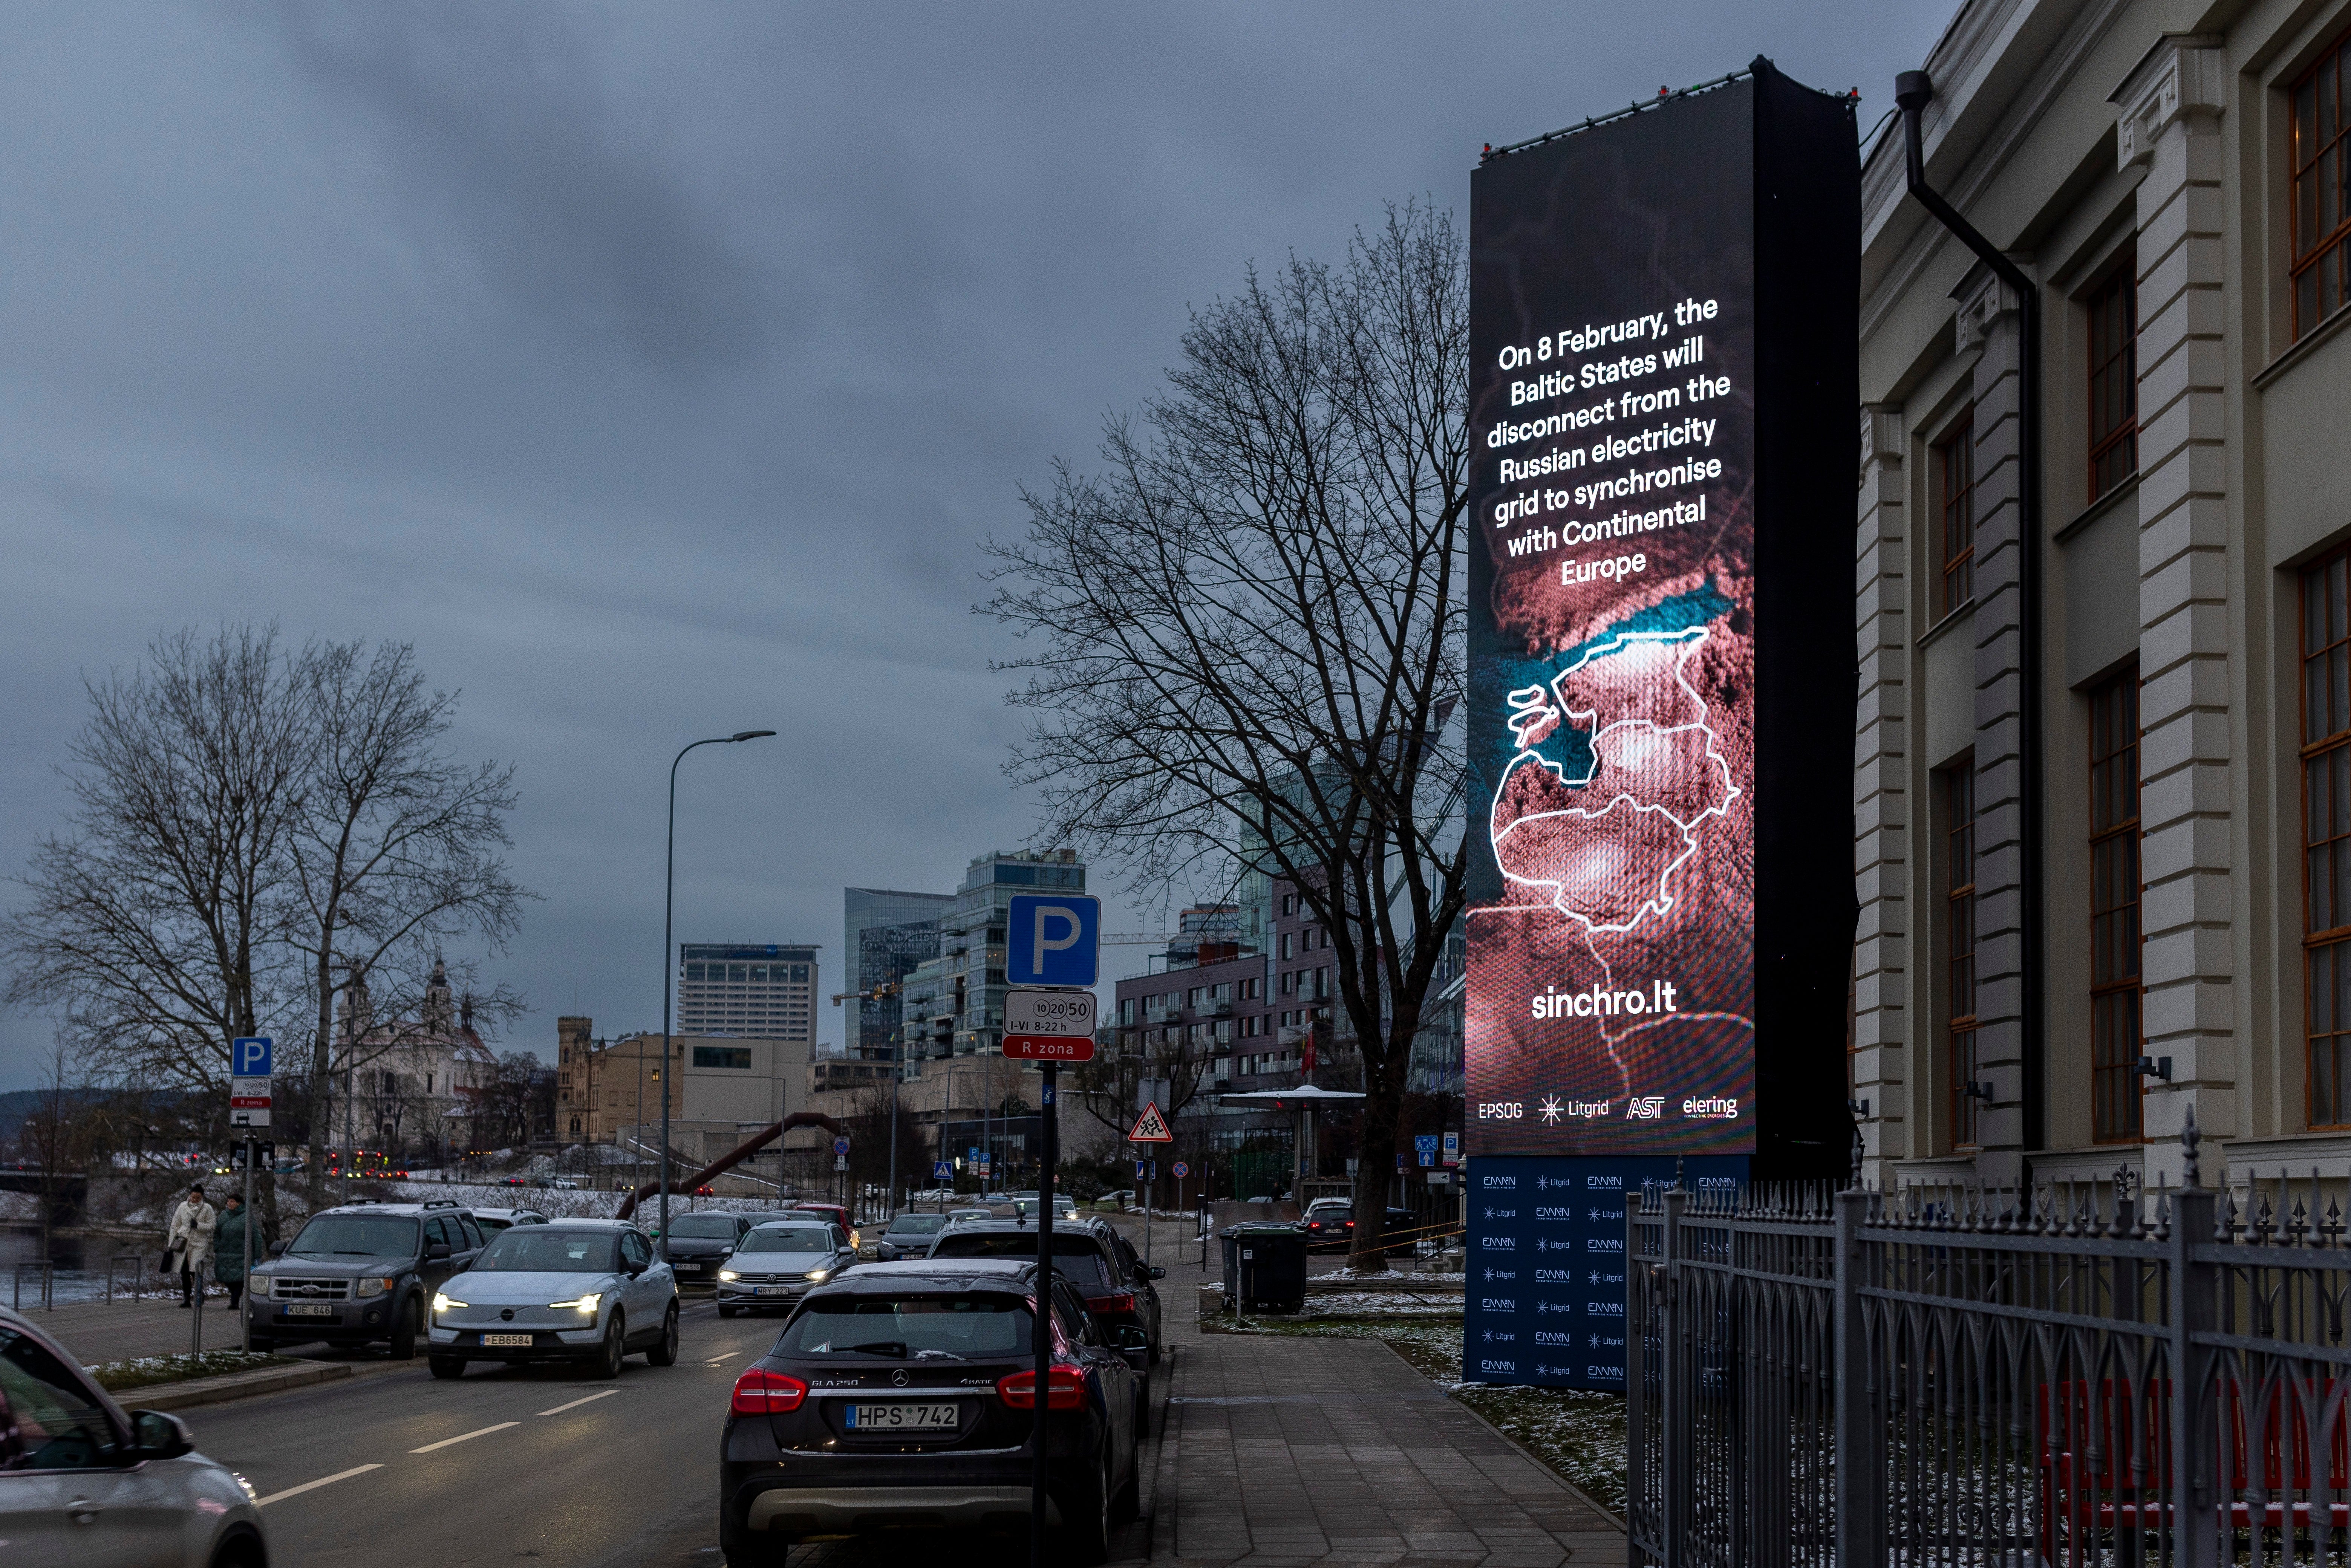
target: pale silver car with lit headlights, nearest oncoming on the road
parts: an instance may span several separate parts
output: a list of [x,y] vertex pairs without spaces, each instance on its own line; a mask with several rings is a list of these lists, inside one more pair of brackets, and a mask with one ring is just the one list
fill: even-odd
[[426,1363],[463,1378],[468,1361],[585,1361],[621,1375],[642,1349],[677,1361],[677,1276],[628,1220],[515,1225],[433,1295]]

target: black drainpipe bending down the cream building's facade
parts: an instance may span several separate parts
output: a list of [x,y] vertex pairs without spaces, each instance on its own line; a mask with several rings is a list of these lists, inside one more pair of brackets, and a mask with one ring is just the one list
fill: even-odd
[[1918,113],[1935,99],[1935,82],[1925,71],[1904,71],[1895,78],[1895,106],[1902,110],[1902,155],[1909,169],[1909,193],[1935,216],[1958,242],[1975,252],[2001,282],[2005,282],[2024,310],[2024,353],[2017,386],[2020,430],[2020,484],[2017,531],[2024,555],[2017,562],[2020,614],[2024,656],[2020,679],[2024,682],[2024,736],[2017,745],[2022,766],[2020,790],[2024,809],[2022,875],[2024,907],[2017,929],[2024,952],[2024,1150],[2027,1154],[2045,1145],[2043,1138],[2043,1067],[2048,1063],[2048,978],[2041,952],[2043,891],[2043,788],[2041,788],[2041,287],[2024,275],[2015,261],[1977,233],[1975,223],[1958,216],[1951,202],[1942,200],[1925,183],[1925,155],[1918,148]]

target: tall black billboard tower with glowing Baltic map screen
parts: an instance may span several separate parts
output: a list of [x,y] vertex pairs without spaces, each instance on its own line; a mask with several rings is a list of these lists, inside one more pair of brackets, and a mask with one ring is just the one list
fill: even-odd
[[1479,1354],[1608,1314],[1498,1288],[1481,1161],[1848,1168],[1853,110],[1759,59],[1472,176],[1469,1378],[1622,1385]]

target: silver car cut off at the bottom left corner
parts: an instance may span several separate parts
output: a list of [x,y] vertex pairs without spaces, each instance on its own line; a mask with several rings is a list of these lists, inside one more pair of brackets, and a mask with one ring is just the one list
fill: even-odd
[[0,1561],[266,1568],[254,1488],[188,1425],[125,1413],[56,1340],[0,1309]]

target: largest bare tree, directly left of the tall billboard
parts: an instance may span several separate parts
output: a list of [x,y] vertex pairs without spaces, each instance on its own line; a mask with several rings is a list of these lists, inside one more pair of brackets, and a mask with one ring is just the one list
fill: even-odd
[[[1006,771],[1039,842],[1145,884],[1288,882],[1364,1058],[1357,1204],[1380,1213],[1411,1039],[1462,907],[1469,310],[1432,207],[1340,266],[1291,259],[1192,315],[1100,470],[1027,494],[987,611],[1039,644]],[[1382,1267],[1357,1227],[1357,1267]]]

